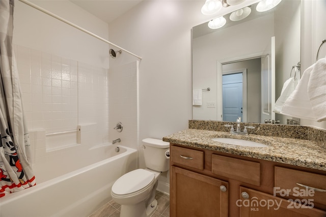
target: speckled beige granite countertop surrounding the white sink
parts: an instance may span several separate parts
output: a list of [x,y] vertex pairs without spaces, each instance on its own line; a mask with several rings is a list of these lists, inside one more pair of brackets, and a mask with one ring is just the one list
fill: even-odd
[[[211,140],[218,137],[250,140],[268,147],[229,145]],[[165,136],[163,141],[326,171],[326,149],[311,140],[187,129]]]

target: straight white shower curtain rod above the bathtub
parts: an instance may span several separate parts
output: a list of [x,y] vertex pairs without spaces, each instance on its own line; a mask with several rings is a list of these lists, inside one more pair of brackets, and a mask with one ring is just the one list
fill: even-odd
[[120,47],[120,46],[118,46],[118,45],[116,45],[116,44],[114,44],[114,43],[112,43],[112,42],[109,42],[109,41],[107,41],[107,40],[105,40],[105,39],[99,37],[98,35],[95,35],[94,33],[89,32],[89,31],[86,30],[85,28],[82,28],[82,27],[80,27],[80,26],[78,26],[78,25],[76,25],[76,24],[74,24],[74,23],[72,23],[72,22],[70,22],[70,21],[68,21],[68,20],[66,20],[66,19],[64,19],[64,18],[62,18],[62,17],[60,17],[60,16],[58,16],[58,15],[56,15],[56,14],[53,14],[52,12],[49,12],[49,11],[45,10],[44,8],[41,8],[41,7],[35,5],[35,4],[33,4],[33,3],[31,3],[31,2],[29,2],[29,1],[27,1],[27,0],[19,0],[19,1],[22,2],[22,3],[24,3],[24,4],[26,4],[26,5],[31,6],[32,8],[35,8],[35,9],[39,10],[39,11],[41,11],[41,12],[47,14],[47,15],[50,15],[51,17],[54,17],[54,18],[56,18],[56,19],[58,19],[58,20],[60,20],[60,21],[62,21],[62,22],[64,22],[64,23],[67,23],[68,25],[71,25],[71,26],[73,26],[73,27],[75,27],[75,28],[77,28],[77,29],[83,31],[84,33],[87,33],[87,34],[89,34],[89,35],[91,35],[91,36],[93,36],[93,37],[95,37],[95,38],[97,38],[97,39],[99,39],[99,40],[105,42],[106,44],[110,44],[110,45],[112,45],[112,46],[115,46],[116,48],[118,48],[118,49],[120,49],[120,50],[123,50],[123,51],[125,51],[126,53],[129,53],[129,54],[131,54],[131,55],[133,55],[133,56],[135,56],[135,57],[137,57],[137,58],[139,58],[139,59],[142,59],[142,57],[140,57],[140,56],[138,56],[138,55],[136,55],[136,54],[134,54],[134,53],[131,53],[130,51],[128,51],[128,50],[126,50],[126,49],[123,49],[122,47]]

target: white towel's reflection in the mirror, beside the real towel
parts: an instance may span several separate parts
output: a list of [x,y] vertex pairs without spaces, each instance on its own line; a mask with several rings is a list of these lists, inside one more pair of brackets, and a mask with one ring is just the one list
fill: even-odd
[[298,80],[299,79],[297,77],[295,77],[295,78],[291,77],[284,82],[283,88],[281,91],[281,95],[275,103],[274,112],[280,113],[282,111],[285,101],[287,100],[287,98],[289,98],[289,96],[294,91],[294,89],[298,83]]

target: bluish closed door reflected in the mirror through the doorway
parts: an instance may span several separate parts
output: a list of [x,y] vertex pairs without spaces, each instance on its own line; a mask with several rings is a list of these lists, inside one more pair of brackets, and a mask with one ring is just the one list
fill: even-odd
[[223,121],[242,119],[242,73],[222,76]]

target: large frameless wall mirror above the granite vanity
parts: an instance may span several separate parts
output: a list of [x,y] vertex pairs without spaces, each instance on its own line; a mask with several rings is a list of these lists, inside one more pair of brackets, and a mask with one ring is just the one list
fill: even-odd
[[210,29],[208,22],[193,27],[193,90],[195,97],[201,94],[193,119],[236,121],[241,116],[245,122],[286,124],[291,118],[274,113],[273,106],[300,62],[301,2],[283,0],[266,12],[257,12],[257,4],[242,20],[224,15],[221,28]]

